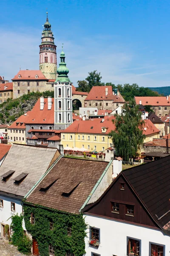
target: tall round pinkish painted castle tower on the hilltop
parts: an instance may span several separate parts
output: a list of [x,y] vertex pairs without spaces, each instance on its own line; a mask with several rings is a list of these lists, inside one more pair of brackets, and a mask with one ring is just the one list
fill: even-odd
[[42,42],[40,44],[40,70],[47,79],[56,79],[57,54],[51,24],[47,19],[42,31]]

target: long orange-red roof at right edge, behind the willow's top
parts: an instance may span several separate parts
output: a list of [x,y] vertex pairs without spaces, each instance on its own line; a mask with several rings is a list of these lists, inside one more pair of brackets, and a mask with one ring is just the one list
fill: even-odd
[[167,97],[135,97],[136,104],[139,105],[139,101],[142,101],[142,105],[151,106],[170,106],[170,98]]

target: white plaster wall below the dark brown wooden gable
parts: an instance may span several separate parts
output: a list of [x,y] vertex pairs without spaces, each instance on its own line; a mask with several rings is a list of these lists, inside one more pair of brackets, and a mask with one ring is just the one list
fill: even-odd
[[[91,252],[101,256],[126,256],[127,236],[141,240],[141,255],[149,256],[149,242],[164,244],[165,256],[170,256],[170,236],[159,230],[127,224],[121,221],[110,220],[90,215],[84,215],[88,224],[87,238],[85,238],[85,256],[91,256]],[[89,247],[89,226],[100,229],[99,248]]]

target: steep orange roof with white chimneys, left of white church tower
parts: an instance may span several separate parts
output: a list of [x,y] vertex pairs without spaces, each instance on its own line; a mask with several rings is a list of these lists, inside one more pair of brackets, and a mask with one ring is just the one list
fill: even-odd
[[[45,120],[45,121],[44,121]],[[44,98],[44,108],[40,110],[40,98],[30,111],[27,124],[54,124],[54,98],[52,98],[52,107],[48,109],[48,99]]]

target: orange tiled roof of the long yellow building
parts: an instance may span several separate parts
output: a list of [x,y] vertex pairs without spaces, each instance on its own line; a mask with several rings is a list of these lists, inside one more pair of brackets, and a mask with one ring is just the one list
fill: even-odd
[[[107,131],[102,132],[102,127],[106,127]],[[74,121],[63,133],[78,132],[78,133],[90,133],[90,134],[108,134],[111,130],[115,129],[112,121],[101,122],[101,119],[93,120],[79,120]]]

